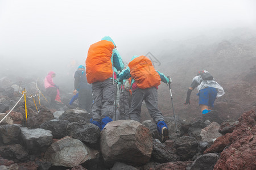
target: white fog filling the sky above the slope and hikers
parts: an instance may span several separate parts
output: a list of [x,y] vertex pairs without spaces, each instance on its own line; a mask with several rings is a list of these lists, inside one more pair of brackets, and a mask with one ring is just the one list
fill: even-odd
[[72,76],[104,36],[112,37],[126,63],[148,52],[161,61],[179,42],[206,36],[213,43],[240,28],[255,31],[255,25],[253,0],[0,0],[0,76]]

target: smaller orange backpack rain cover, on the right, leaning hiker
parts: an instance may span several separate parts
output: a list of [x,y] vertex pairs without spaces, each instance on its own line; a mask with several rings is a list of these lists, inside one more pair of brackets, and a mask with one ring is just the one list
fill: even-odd
[[157,87],[160,85],[160,75],[155,71],[150,59],[145,56],[134,58],[128,65],[130,73],[139,88]]

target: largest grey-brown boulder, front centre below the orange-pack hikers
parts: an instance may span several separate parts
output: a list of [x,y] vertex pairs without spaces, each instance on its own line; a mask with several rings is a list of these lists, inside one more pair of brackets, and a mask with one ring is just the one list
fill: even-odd
[[152,146],[150,130],[137,121],[112,121],[101,131],[101,153],[108,167],[115,162],[146,164],[150,160]]

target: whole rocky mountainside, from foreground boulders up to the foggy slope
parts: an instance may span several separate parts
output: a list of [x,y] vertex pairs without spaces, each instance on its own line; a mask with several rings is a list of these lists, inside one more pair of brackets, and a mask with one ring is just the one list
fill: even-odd
[[[100,131],[89,123],[90,114],[78,108],[77,101],[68,104],[72,84],[67,82],[73,79],[58,83],[64,105],[49,107],[48,97],[43,97],[43,77],[1,75],[0,119],[26,88],[27,120],[22,97],[0,124],[0,169],[256,169],[255,36],[205,45],[186,43],[163,52],[163,58],[171,57],[159,59],[162,65],[156,68],[173,81],[177,130],[168,86],[161,84],[158,90],[159,108],[170,131],[165,143],[159,141],[144,105],[140,123],[119,120]],[[183,104],[193,76],[203,69],[225,90],[207,121],[200,114],[196,90],[191,105]],[[34,97],[35,106],[31,96],[39,92],[36,85],[43,95],[40,104]]]

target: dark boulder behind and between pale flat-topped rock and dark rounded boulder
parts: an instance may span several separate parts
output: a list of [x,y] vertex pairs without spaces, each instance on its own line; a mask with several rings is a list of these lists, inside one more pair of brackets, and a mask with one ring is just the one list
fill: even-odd
[[52,136],[55,139],[63,138],[67,135],[67,126],[69,121],[53,119],[44,122],[40,128],[52,131]]

